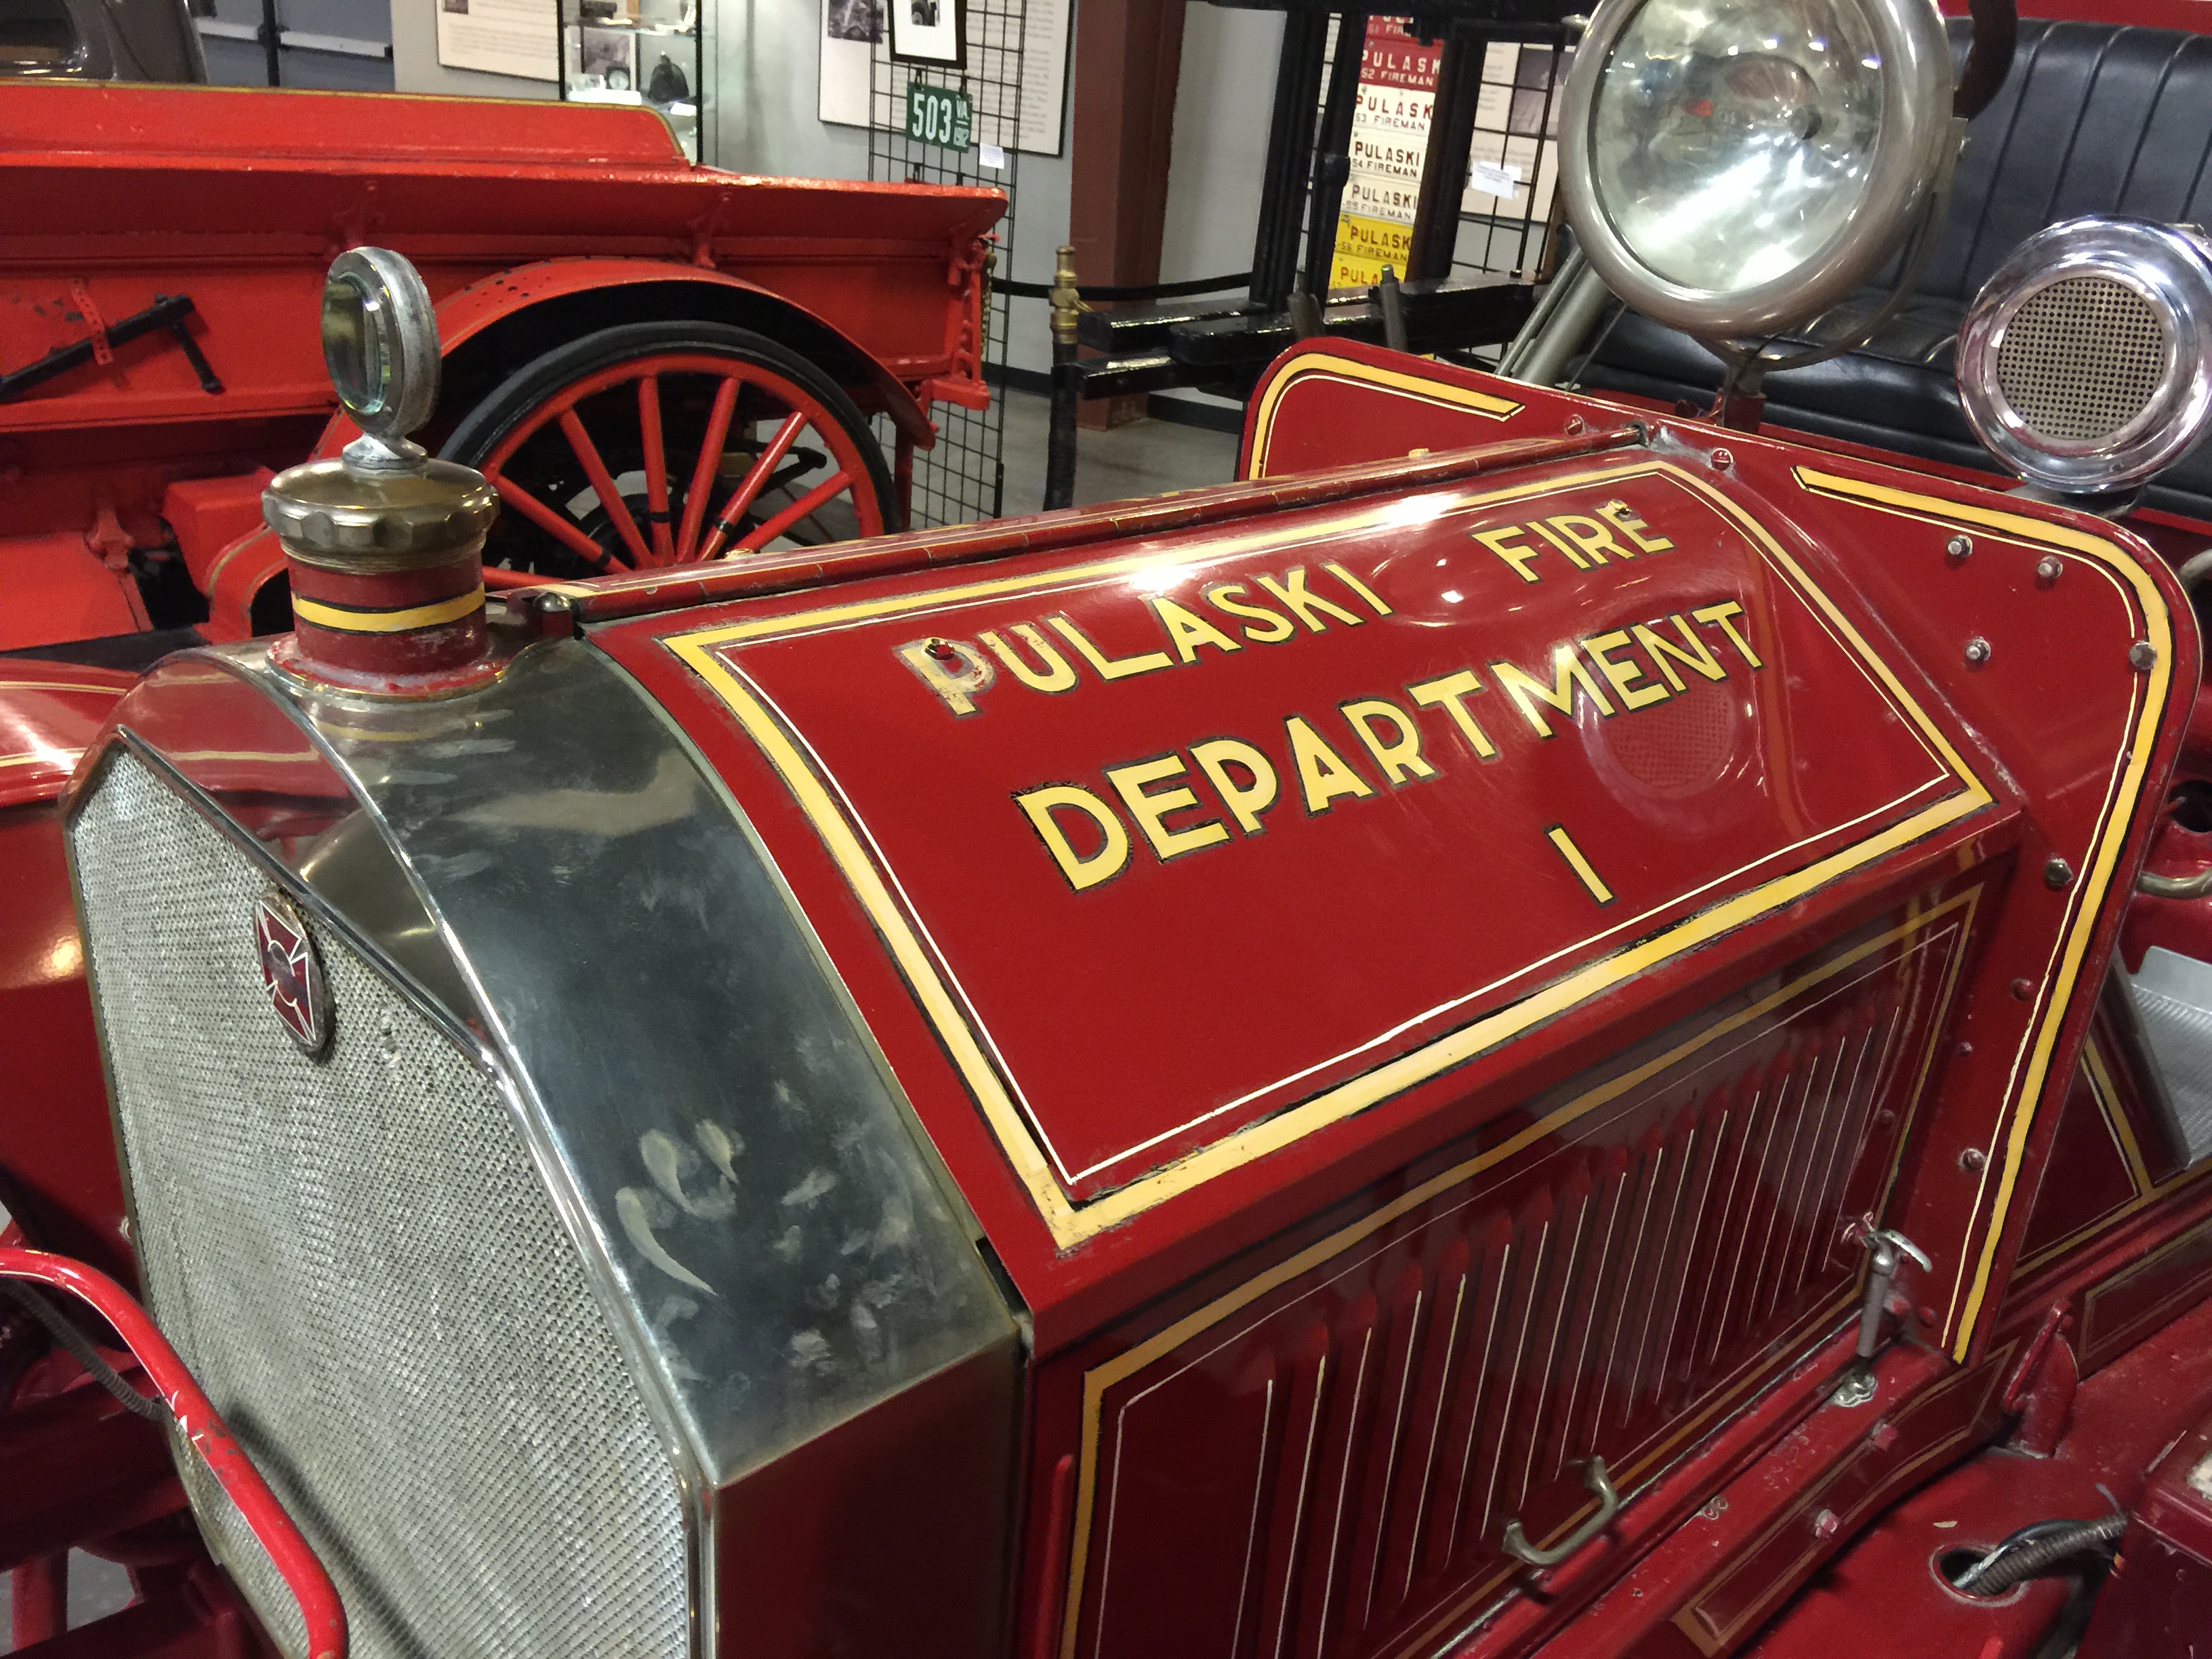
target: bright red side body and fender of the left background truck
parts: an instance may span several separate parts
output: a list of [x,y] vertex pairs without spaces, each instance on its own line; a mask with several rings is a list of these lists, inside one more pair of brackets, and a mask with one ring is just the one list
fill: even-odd
[[[102,526],[117,553],[164,544],[177,480],[330,447],[316,314],[343,248],[407,254],[440,301],[449,352],[575,296],[606,307],[591,327],[692,310],[728,321],[734,305],[823,345],[863,407],[927,442],[925,383],[978,376],[982,239],[1002,206],[989,190],[695,168],[650,111],[9,80],[0,369],[84,341],[95,314],[115,325],[181,292],[223,383],[208,394],[155,332],[0,405],[11,593],[33,566],[46,586],[82,586],[82,538]],[[668,283],[688,299],[655,299]],[[650,305],[661,310],[639,310]],[[250,591],[226,597],[239,633]],[[55,597],[7,644],[139,626]]]

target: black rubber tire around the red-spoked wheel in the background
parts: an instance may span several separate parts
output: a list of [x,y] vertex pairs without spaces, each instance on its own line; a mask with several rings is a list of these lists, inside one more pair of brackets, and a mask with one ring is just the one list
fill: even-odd
[[[883,447],[876,442],[876,434],[869,429],[867,416],[860,414],[845,389],[818,365],[810,363],[792,347],[768,338],[765,334],[754,334],[748,327],[734,327],[730,323],[703,323],[690,319],[619,323],[615,327],[602,327],[595,334],[584,334],[566,345],[555,345],[551,352],[531,358],[520,369],[509,374],[473,409],[462,414],[438,453],[445,460],[458,460],[467,467],[476,467],[500,447],[500,440],[507,438],[507,434],[513,431],[524,416],[538,409],[562,387],[591,374],[599,374],[602,369],[613,369],[635,358],[661,356],[666,352],[726,356],[748,367],[781,374],[799,385],[830,411],[830,418],[845,429],[845,436],[852,440],[854,449],[858,449],[860,460],[867,467],[869,484],[874,487],[876,500],[883,509],[885,533],[900,529],[898,493],[891,484],[891,469],[883,460]],[[498,535],[498,531],[493,531],[493,535]],[[538,535],[544,533],[538,531]],[[493,557],[495,549],[487,546],[484,555]]]

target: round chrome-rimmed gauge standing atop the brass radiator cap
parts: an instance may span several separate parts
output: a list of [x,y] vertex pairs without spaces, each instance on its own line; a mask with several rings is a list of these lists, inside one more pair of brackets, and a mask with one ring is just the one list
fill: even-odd
[[323,363],[367,436],[398,445],[438,405],[438,314],[389,248],[338,254],[323,281]]

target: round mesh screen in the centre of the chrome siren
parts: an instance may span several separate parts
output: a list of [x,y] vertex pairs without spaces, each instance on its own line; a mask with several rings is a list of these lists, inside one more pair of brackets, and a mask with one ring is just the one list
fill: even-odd
[[2126,427],[2166,378],[2166,323],[2110,276],[2066,276],[2022,301],[1997,345],[1997,389],[2042,436],[2088,442]]

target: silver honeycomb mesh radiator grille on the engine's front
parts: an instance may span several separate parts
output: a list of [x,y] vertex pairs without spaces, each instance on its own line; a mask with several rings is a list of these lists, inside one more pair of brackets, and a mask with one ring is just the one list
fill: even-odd
[[[161,1329],[387,1655],[684,1655],[675,1473],[491,1079],[316,929],[325,1060],[261,991],[259,869],[131,754],[71,838]],[[197,1458],[212,1544],[301,1621]]]

